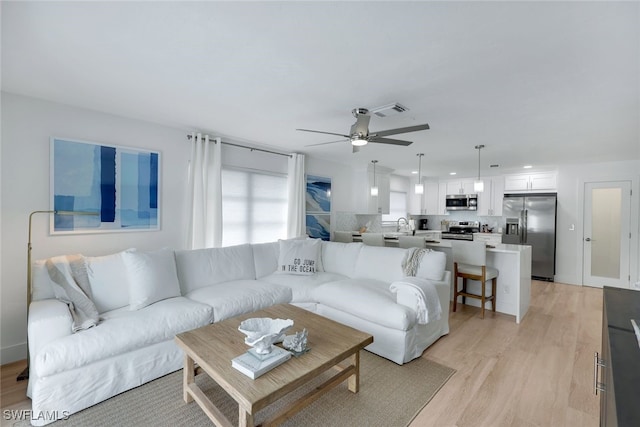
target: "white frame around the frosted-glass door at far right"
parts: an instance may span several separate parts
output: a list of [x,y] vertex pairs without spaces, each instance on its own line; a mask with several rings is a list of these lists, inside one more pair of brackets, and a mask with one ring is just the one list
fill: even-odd
[[576,242],[576,249],[579,251],[579,256],[577,257],[576,272],[577,277],[580,279],[580,285],[585,286],[584,284],[584,245],[586,244],[584,239],[584,215],[585,215],[585,190],[586,184],[588,183],[596,183],[596,182],[619,182],[619,181],[630,181],[631,182],[631,200],[630,200],[630,226],[629,230],[631,232],[631,239],[629,242],[629,275],[631,276],[630,287],[633,288],[633,285],[636,281],[640,281],[640,240],[638,235],[640,234],[640,176],[629,176],[629,175],[606,175],[606,176],[591,176],[585,177],[578,180],[578,217],[576,218],[576,225],[578,227],[576,233],[576,237],[578,241]]

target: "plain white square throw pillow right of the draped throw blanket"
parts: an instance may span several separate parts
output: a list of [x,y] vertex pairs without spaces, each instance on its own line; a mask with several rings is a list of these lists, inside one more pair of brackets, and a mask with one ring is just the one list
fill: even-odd
[[130,283],[129,310],[139,310],[154,302],[181,295],[173,250],[128,250],[122,257]]

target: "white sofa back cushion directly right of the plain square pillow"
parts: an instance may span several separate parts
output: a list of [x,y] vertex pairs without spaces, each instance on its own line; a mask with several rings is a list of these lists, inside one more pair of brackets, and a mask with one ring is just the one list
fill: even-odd
[[251,245],[177,251],[176,267],[182,295],[217,283],[256,278]]

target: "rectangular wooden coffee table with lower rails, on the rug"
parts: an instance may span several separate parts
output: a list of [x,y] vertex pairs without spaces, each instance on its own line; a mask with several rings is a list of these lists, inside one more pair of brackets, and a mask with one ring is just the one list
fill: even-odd
[[[246,352],[244,334],[238,331],[240,322],[252,317],[292,319],[293,331],[306,328],[311,351],[292,357],[284,364],[252,380],[231,367],[231,359]],[[236,402],[238,424],[253,426],[254,416],[262,408],[308,383],[323,372],[334,368],[336,374],[282,409],[263,425],[277,425],[319,398],[336,385],[348,380],[348,388],[358,392],[360,350],[373,342],[373,337],[333,320],[293,305],[281,304],[254,313],[237,316],[203,326],[176,336],[185,352],[183,397],[195,400],[211,420],[219,426],[231,426],[227,417],[216,408],[195,383],[195,363]]]

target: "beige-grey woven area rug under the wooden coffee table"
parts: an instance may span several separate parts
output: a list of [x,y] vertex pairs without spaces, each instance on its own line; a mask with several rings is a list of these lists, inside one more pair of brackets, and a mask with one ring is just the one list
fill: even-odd
[[[367,351],[361,352],[360,363],[360,391],[357,394],[351,393],[346,383],[342,383],[283,425],[406,426],[455,372],[425,358],[399,366]],[[198,375],[196,382],[228,419],[238,425],[238,405],[207,375]],[[269,418],[290,399],[310,390],[314,383],[316,381],[258,412],[256,423]],[[52,425],[191,427],[211,426],[212,422],[195,402],[186,404],[182,400],[182,371],[178,371]]]

